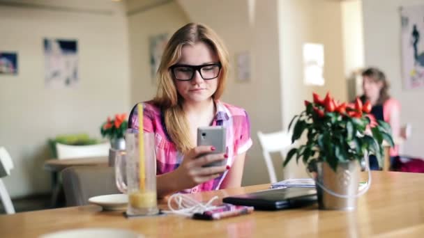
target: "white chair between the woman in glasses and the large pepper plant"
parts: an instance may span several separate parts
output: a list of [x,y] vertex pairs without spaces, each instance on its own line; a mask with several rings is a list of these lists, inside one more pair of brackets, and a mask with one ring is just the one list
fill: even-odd
[[277,175],[275,174],[270,153],[280,152],[282,159],[284,160],[289,148],[291,148],[292,136],[286,131],[268,134],[257,132],[257,136],[259,137],[259,143],[262,147],[262,154],[264,154],[266,168],[268,168],[269,180],[271,183],[277,182]]

